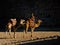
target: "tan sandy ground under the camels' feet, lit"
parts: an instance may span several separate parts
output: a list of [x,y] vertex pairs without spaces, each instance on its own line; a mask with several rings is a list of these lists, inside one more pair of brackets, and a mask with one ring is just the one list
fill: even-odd
[[[25,35],[25,36],[24,36]],[[17,45],[18,42],[31,40],[31,32],[28,32],[27,34],[23,32],[16,32],[16,38],[13,38],[14,33],[11,33],[11,38],[9,33],[6,32],[0,32],[0,45]],[[50,36],[60,36],[60,32],[34,32],[33,33],[33,39],[37,38],[46,38]]]

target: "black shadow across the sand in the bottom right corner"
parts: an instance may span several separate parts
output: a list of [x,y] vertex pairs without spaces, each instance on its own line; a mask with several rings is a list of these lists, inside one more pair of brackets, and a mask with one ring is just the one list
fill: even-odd
[[[49,37],[49,38],[53,38],[53,37]],[[37,38],[36,40],[40,40],[40,39]],[[57,36],[57,39],[36,41],[36,42],[31,42],[31,43],[19,44],[19,45],[60,45],[60,36]]]

